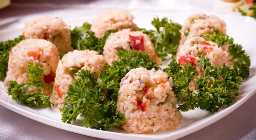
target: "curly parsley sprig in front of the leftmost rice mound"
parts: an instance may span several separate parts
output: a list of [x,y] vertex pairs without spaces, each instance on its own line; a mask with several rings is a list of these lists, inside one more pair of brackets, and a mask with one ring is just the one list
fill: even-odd
[[[12,95],[12,99],[29,107],[52,107],[49,97],[44,94],[44,88],[52,85],[44,83],[44,70],[41,66],[36,67],[33,62],[29,62],[27,72],[29,73],[29,81],[27,84],[18,84],[16,81],[10,81],[8,95]],[[28,92],[29,87],[42,87],[37,92]]]

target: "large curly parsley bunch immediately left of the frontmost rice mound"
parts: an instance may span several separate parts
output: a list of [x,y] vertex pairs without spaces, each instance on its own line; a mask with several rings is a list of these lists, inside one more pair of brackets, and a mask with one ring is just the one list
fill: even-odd
[[122,113],[116,111],[116,101],[105,97],[105,93],[111,96],[118,92],[119,76],[115,71],[103,70],[97,80],[89,70],[80,70],[78,76],[81,78],[69,86],[67,100],[60,109],[63,122],[71,123],[79,115],[84,118],[85,127],[107,130],[125,121]]

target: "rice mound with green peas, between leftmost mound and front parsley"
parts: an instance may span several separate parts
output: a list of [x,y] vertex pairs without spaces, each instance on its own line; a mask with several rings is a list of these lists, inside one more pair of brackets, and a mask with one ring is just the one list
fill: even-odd
[[62,108],[69,85],[73,85],[73,81],[79,78],[76,73],[81,69],[90,70],[97,78],[105,63],[104,57],[94,50],[74,50],[65,54],[58,63],[51,102]]

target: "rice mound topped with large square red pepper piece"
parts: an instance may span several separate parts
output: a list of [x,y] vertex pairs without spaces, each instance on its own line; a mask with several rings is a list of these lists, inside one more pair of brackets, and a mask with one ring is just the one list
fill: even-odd
[[151,60],[162,64],[162,60],[157,56],[154,46],[147,34],[143,34],[142,31],[130,31],[130,29],[123,29],[116,33],[111,34],[103,48],[104,58],[108,64],[112,64],[113,61],[118,61],[119,57],[116,54],[118,50],[136,50],[143,51],[149,54]]

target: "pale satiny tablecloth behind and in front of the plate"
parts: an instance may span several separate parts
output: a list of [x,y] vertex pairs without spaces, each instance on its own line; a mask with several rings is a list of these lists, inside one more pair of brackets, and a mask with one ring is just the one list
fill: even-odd
[[[191,8],[191,5],[198,6],[203,2],[205,1],[159,0],[156,3],[154,0],[147,0],[147,4],[145,4],[145,0],[111,0],[111,2],[108,0],[44,0],[43,2],[40,0],[12,0],[11,6],[0,10],[0,31],[22,27],[24,20],[41,15],[67,19],[70,17],[69,15],[84,17],[117,7],[129,10],[138,9],[141,4],[143,4],[143,9],[150,9],[151,6],[154,6],[155,11],[185,11]],[[204,7],[199,10],[214,11],[214,9],[218,9],[215,3],[214,0],[207,0],[204,6],[199,5],[199,7]],[[180,140],[256,140],[255,101],[256,95],[253,95],[246,103],[226,117]],[[99,140],[47,126],[3,106],[0,106],[0,112],[0,140]]]

